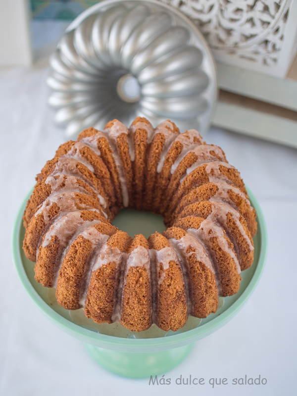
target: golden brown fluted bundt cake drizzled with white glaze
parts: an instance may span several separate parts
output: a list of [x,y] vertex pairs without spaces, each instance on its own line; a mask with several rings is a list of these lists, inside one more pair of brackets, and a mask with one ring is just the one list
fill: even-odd
[[[111,224],[123,207],[160,214],[168,228],[131,238]],[[23,248],[62,307],[131,331],[176,331],[238,292],[255,218],[239,172],[196,130],[113,120],[46,163],[25,209]]]

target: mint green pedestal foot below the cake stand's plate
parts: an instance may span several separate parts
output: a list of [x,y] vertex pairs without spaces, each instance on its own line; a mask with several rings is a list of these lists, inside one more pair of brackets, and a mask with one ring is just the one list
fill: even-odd
[[158,352],[119,352],[86,344],[91,356],[114,374],[129,378],[149,378],[177,366],[191,352],[194,344]]

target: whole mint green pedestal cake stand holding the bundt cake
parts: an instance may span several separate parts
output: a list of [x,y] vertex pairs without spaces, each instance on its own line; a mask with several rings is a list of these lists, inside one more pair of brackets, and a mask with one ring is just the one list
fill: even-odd
[[256,209],[258,222],[258,232],[254,238],[254,263],[242,273],[243,280],[237,295],[226,297],[220,311],[203,319],[193,330],[172,332],[166,337],[158,338],[114,337],[75,324],[69,311],[60,306],[51,305],[47,297],[48,289],[35,281],[34,264],[26,259],[22,249],[25,235],[22,215],[31,192],[22,203],[14,224],[12,253],[15,268],[26,292],[42,312],[61,330],[86,343],[90,354],[102,367],[117,375],[130,378],[146,378],[150,375],[164,374],[190,353],[193,343],[215,332],[236,315],[259,282],[267,254],[267,231],[258,202],[249,190],[248,194],[252,206]]

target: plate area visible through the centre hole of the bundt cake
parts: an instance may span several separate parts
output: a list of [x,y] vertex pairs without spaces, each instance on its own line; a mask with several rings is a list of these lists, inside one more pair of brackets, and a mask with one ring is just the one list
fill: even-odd
[[134,209],[121,209],[112,225],[125,231],[132,238],[137,234],[143,234],[148,238],[156,231],[162,233],[166,230],[162,216]]

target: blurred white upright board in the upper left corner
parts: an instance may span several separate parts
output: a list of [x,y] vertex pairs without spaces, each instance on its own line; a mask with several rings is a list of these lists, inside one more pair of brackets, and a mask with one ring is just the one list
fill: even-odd
[[0,66],[32,61],[27,0],[0,1]]

